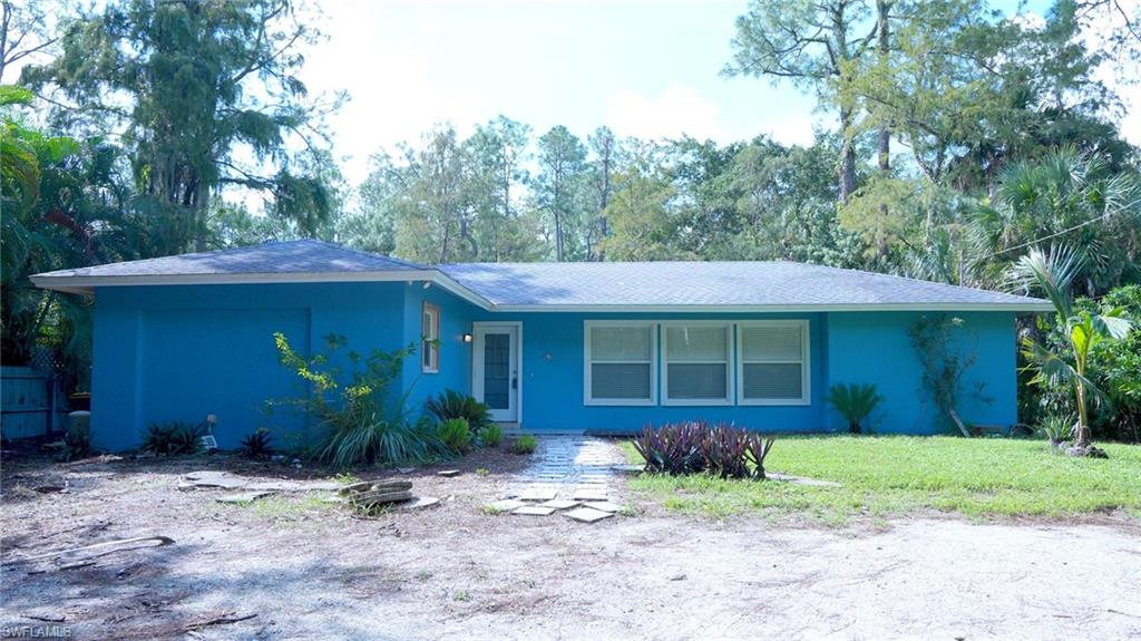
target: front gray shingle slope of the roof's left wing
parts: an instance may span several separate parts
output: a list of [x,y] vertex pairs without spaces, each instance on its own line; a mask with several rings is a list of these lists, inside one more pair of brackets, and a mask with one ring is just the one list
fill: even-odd
[[322,241],[288,241],[250,248],[186,253],[62,269],[40,277],[208,276],[221,274],[335,274],[423,269],[414,262],[343,248]]

